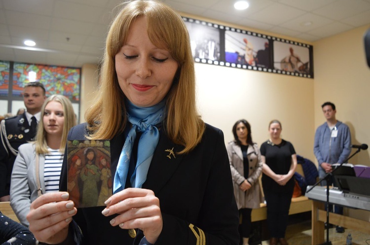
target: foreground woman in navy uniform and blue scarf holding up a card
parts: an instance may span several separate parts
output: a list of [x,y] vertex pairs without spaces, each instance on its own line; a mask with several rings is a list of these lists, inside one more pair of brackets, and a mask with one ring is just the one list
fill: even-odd
[[154,0],[116,10],[97,97],[68,136],[111,140],[114,194],[106,206],[77,210],[65,192],[65,157],[61,191],[32,203],[30,230],[47,244],[237,245],[223,133],[197,113],[183,19]]

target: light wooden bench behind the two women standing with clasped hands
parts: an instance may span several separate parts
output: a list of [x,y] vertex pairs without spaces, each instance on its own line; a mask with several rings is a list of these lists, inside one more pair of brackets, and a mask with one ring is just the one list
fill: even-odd
[[[301,164],[297,164],[296,172],[304,176]],[[262,187],[260,180],[261,178],[259,178],[259,184]],[[309,200],[308,197],[305,196],[292,198],[289,214],[299,214],[308,211],[312,211],[312,200]],[[266,204],[261,203],[259,209],[252,210],[252,222],[265,219],[267,219],[267,207]]]

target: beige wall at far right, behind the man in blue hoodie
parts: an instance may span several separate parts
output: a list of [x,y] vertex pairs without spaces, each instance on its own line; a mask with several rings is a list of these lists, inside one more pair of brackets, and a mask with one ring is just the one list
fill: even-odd
[[[332,101],[336,118],[351,131],[352,144],[370,145],[370,68],[366,63],[364,33],[370,25],[314,43],[314,122],[325,122],[321,104]],[[361,151],[350,163],[370,166],[369,151]],[[352,151],[354,152],[354,151]]]

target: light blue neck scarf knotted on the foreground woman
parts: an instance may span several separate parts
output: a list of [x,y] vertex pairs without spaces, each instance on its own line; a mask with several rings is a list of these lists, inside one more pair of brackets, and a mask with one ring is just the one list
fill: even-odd
[[159,141],[159,131],[155,125],[162,122],[165,117],[164,109],[166,100],[162,100],[151,107],[139,107],[127,99],[125,102],[127,121],[132,124],[132,128],[127,134],[122,152],[119,156],[114,175],[113,193],[117,193],[125,188],[132,147],[136,139],[136,131],[142,132],[142,135],[139,139],[135,171],[130,178],[131,186],[141,188],[147,180],[150,162]]

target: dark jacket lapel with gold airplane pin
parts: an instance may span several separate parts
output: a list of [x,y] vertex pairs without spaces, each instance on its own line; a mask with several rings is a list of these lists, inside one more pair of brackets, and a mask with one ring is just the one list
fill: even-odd
[[180,155],[178,152],[183,149],[183,146],[174,144],[166,134],[161,132],[143,188],[151,189],[157,194],[180,165],[183,154]]

